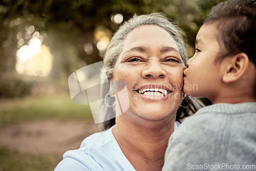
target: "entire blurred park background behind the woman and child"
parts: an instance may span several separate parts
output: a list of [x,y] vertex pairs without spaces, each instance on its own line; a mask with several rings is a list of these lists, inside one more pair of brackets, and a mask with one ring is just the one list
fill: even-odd
[[73,104],[68,77],[102,61],[113,33],[136,14],[162,12],[184,31],[187,53],[220,0],[0,0],[0,171],[53,170],[98,131]]

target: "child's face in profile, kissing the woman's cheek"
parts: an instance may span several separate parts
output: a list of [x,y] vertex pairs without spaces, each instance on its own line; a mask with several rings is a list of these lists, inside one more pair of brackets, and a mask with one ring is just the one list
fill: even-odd
[[220,64],[216,58],[225,49],[217,40],[218,32],[212,25],[203,25],[196,38],[196,53],[187,61],[184,70],[184,92],[193,97],[210,100],[220,88]]

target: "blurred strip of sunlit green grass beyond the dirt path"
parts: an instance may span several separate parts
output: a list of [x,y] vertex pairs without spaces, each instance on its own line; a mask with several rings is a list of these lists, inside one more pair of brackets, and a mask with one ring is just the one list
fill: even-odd
[[92,120],[89,105],[72,103],[69,95],[30,96],[0,103],[0,130],[11,124],[44,119]]

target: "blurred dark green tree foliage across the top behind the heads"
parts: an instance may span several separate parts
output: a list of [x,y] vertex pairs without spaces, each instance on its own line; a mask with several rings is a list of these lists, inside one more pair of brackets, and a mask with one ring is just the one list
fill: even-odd
[[[111,22],[116,13],[127,20],[135,13],[162,12],[185,32],[188,54],[194,53],[194,41],[207,11],[221,0],[1,0],[0,1],[0,97],[19,97],[30,88],[15,78],[18,32],[33,25],[35,31],[47,33],[43,44],[51,49],[53,68],[50,77],[67,81],[75,70],[102,60],[96,48],[94,33],[104,30],[112,36],[118,24]],[[19,18],[20,23],[15,23]],[[29,39],[25,39],[27,44]],[[93,53],[86,54],[83,45],[91,43]],[[81,61],[84,61],[82,63]],[[10,75],[4,79],[4,75]],[[2,80],[3,79],[3,80]],[[13,86],[19,92],[13,91]],[[3,94],[10,88],[12,93]],[[66,87],[67,88],[67,87]],[[15,94],[16,93],[16,94]]]

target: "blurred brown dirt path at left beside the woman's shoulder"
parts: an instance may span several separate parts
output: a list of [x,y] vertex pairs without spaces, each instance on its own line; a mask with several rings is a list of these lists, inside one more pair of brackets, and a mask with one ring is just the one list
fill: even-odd
[[79,148],[82,140],[98,132],[99,125],[86,121],[34,121],[0,130],[0,146],[19,152],[63,155]]

